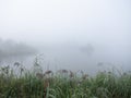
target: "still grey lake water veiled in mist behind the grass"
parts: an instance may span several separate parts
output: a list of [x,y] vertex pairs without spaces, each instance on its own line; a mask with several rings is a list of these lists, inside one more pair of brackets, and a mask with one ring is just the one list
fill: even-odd
[[[84,71],[90,74],[95,74],[103,70],[131,70],[130,48],[114,48],[107,46],[95,46],[92,48],[82,46],[50,46],[39,48],[39,53],[32,57],[9,58],[3,60],[4,65],[15,61],[23,63],[27,69],[33,66],[35,58],[38,58],[39,64],[44,70],[57,71],[60,69],[71,71]],[[91,50],[90,50],[91,49]],[[88,52],[90,51],[90,52]]]

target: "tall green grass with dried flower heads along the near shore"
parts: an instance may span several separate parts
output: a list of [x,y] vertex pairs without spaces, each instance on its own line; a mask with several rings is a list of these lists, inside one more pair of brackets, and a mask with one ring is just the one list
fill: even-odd
[[37,64],[34,71],[15,65],[0,70],[0,98],[131,98],[131,72],[88,76],[67,70],[41,72]]

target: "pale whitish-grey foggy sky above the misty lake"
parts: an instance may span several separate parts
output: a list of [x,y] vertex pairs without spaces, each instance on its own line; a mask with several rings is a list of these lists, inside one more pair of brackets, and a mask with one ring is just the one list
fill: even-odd
[[0,0],[0,36],[37,42],[128,42],[130,10],[130,0]]

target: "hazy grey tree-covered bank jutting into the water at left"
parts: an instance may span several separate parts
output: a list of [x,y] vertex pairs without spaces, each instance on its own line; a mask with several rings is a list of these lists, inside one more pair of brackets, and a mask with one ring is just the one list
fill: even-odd
[[27,57],[34,56],[37,50],[34,47],[27,46],[22,42],[15,42],[13,40],[0,39],[0,63],[11,63],[16,61],[23,61]]

